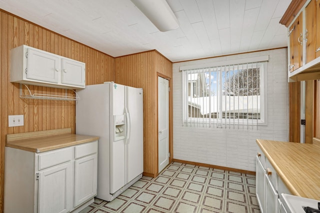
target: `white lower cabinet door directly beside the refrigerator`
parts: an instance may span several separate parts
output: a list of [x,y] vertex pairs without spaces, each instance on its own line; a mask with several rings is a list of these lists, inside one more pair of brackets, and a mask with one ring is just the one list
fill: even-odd
[[97,154],[75,160],[74,207],[96,195]]

